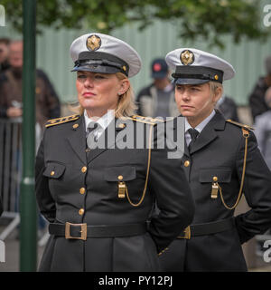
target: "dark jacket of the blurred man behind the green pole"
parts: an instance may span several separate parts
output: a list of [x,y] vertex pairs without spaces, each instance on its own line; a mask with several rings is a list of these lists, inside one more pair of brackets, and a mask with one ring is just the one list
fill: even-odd
[[[10,68],[0,75],[0,118],[6,118],[6,110],[13,102],[23,103],[23,76]],[[61,115],[61,105],[47,75],[41,70],[36,72],[36,120],[43,125]]]

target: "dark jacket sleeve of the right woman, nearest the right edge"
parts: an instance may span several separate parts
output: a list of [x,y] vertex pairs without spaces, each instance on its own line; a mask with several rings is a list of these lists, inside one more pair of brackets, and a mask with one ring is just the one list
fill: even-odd
[[[235,218],[241,243],[265,233],[271,227],[271,172],[257,148],[254,133],[250,131],[249,134],[243,192],[251,209]],[[241,140],[236,163],[239,179],[242,175],[244,150],[245,141]]]

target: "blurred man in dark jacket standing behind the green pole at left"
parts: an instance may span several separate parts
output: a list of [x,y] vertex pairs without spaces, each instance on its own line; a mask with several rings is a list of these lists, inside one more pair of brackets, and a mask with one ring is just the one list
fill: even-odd
[[[23,41],[9,45],[10,68],[0,76],[0,118],[16,119],[23,115]],[[36,71],[36,120],[41,128],[61,114],[59,97],[47,75]]]

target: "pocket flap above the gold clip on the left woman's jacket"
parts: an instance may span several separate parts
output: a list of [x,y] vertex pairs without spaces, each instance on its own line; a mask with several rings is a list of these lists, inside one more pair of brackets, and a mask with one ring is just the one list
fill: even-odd
[[104,177],[107,181],[133,180],[136,178],[136,170],[132,166],[110,167],[104,171]]

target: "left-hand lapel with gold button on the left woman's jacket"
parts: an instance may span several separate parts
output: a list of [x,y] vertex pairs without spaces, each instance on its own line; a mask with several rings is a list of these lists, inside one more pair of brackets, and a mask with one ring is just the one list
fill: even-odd
[[70,146],[79,157],[79,160],[81,160],[83,164],[87,164],[86,129],[83,116],[70,125],[70,135],[67,136],[67,140],[69,140]]

